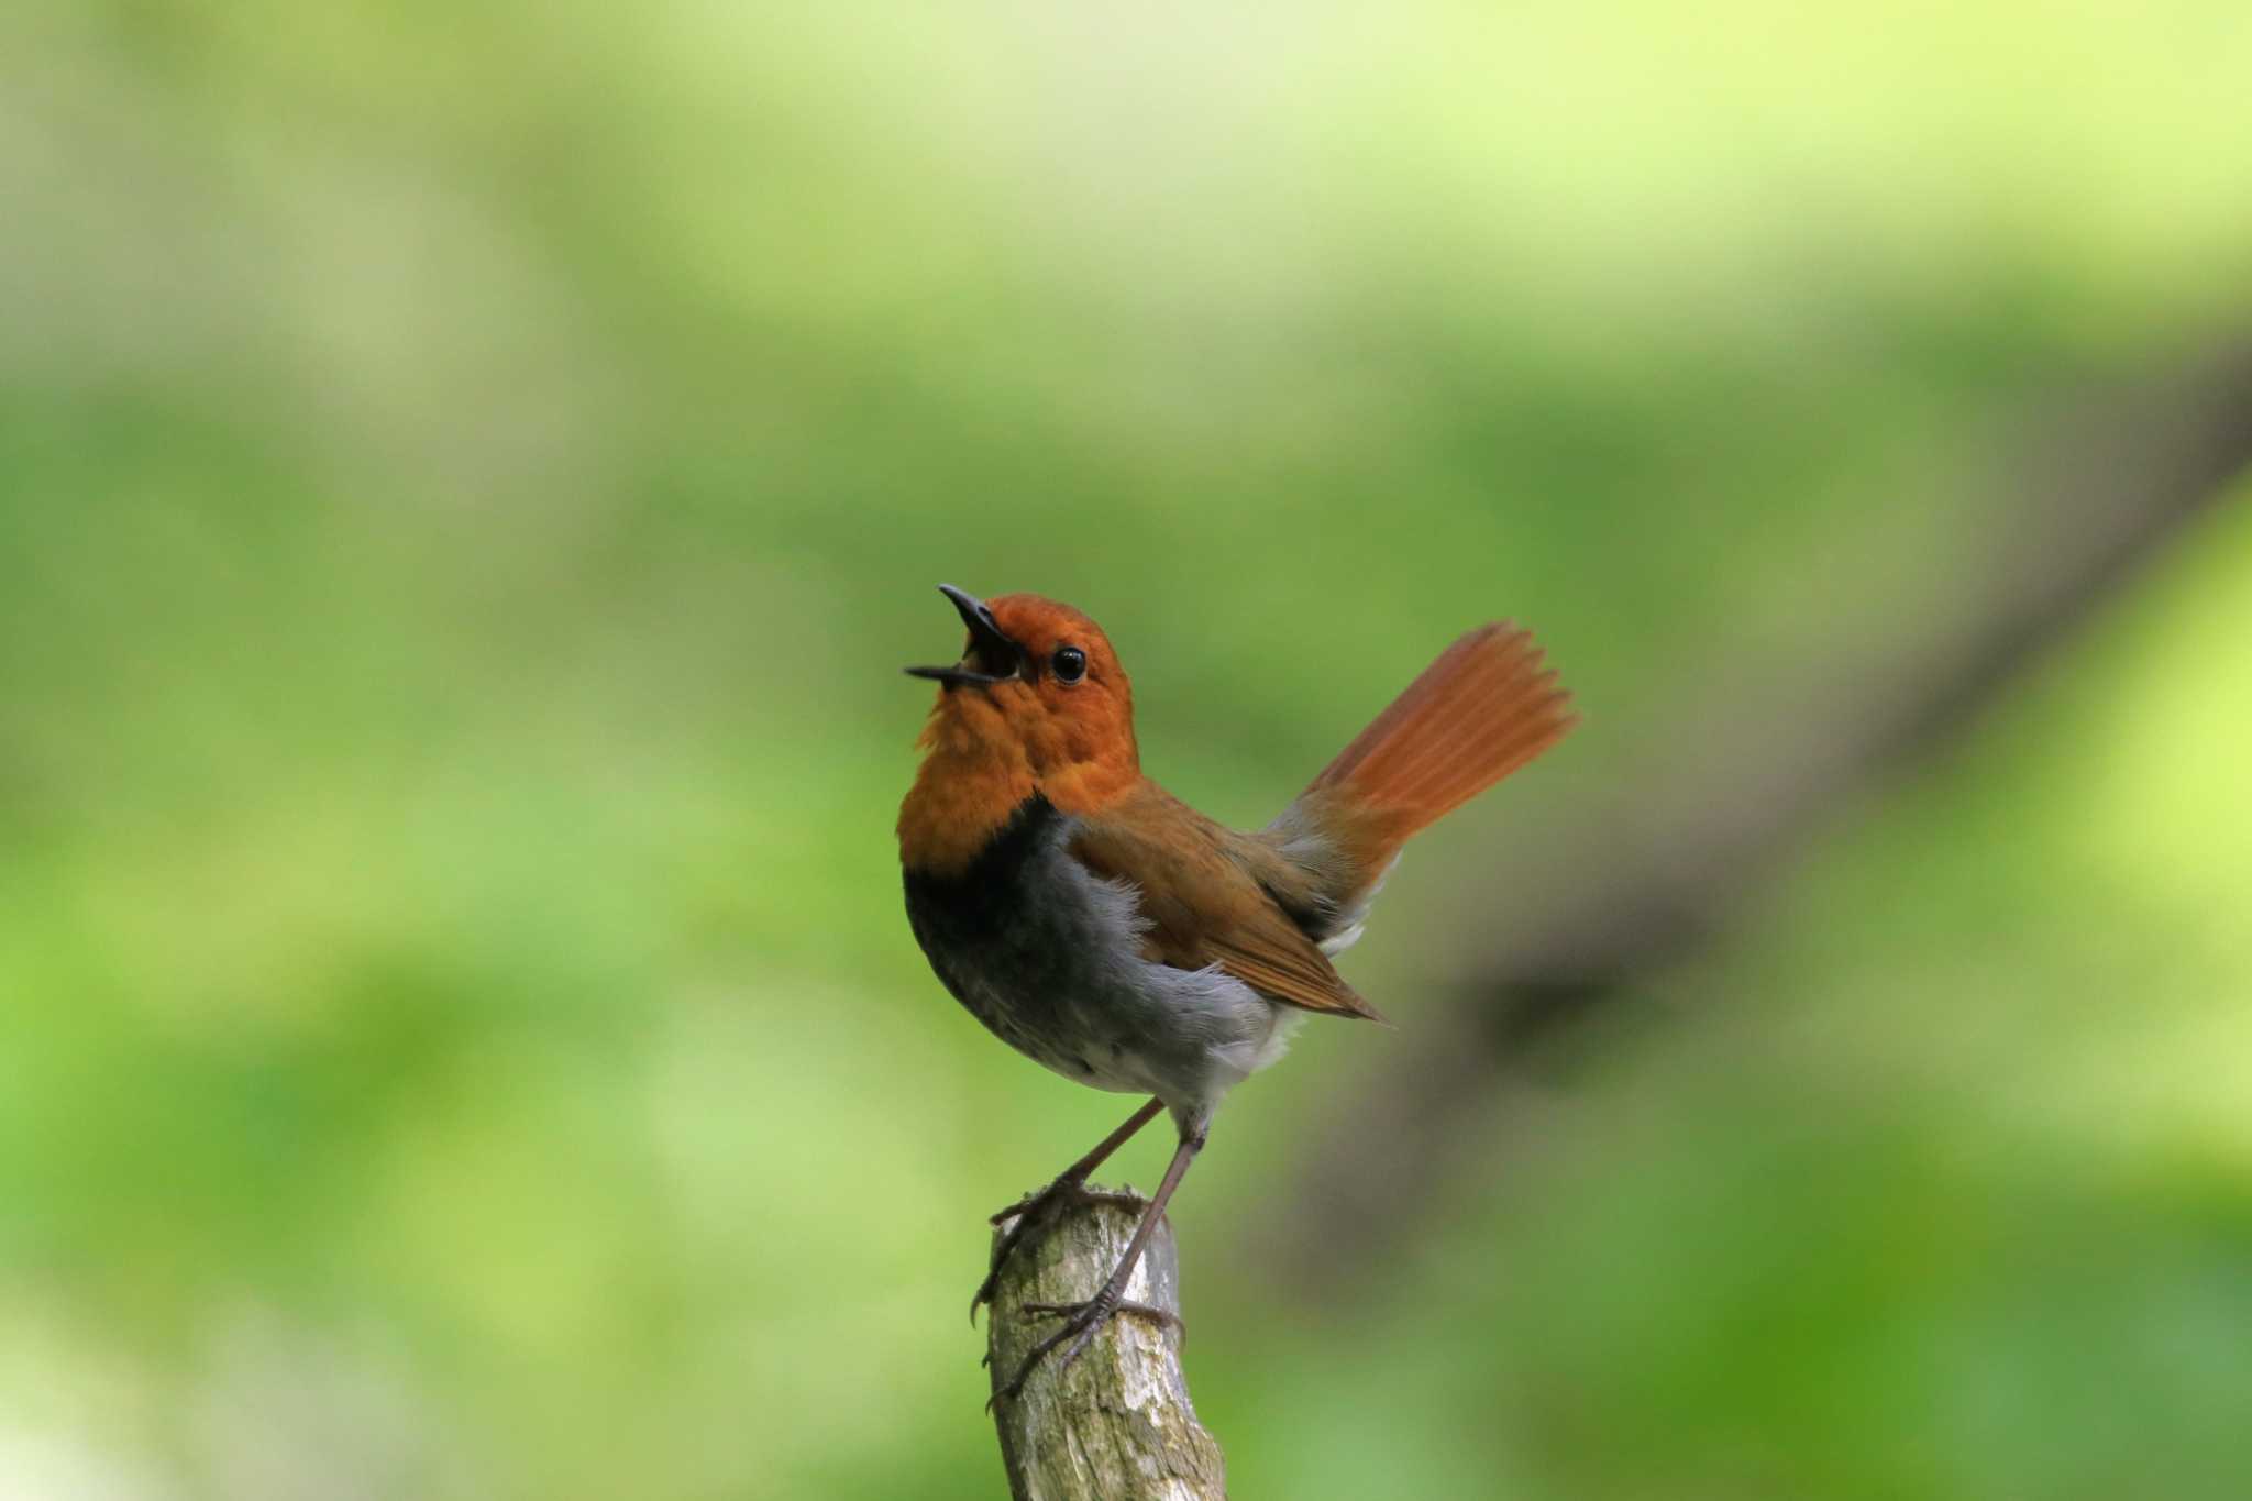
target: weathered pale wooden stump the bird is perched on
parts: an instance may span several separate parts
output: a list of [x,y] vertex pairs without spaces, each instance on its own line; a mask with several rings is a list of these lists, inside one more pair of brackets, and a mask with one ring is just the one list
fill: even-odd
[[[1126,1253],[1137,1217],[1115,1199],[1076,1199],[1025,1235],[1002,1269],[986,1323],[995,1391],[1056,1328],[1025,1305],[1094,1296]],[[995,1231],[995,1244],[1004,1231],[1007,1224]],[[1158,1224],[1126,1296],[1180,1316],[1171,1224]],[[1070,1368],[1061,1368],[1056,1350],[1022,1393],[998,1397],[993,1424],[1016,1501],[1223,1501],[1221,1445],[1196,1422],[1180,1339],[1178,1325],[1121,1312]]]

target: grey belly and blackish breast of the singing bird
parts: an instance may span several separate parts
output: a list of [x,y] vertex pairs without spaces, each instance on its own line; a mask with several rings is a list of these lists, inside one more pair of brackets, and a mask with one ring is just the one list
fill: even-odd
[[1279,1051],[1277,1006],[1218,970],[1142,959],[1135,889],[1088,873],[1070,835],[1034,797],[964,873],[908,871],[914,936],[955,999],[1034,1062],[1205,1114]]

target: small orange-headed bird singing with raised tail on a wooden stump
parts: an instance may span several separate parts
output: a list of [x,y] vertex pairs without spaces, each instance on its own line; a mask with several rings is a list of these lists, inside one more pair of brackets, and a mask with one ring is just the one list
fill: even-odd
[[[1056,1073],[1149,1100],[1045,1188],[993,1215],[971,1319],[1029,1226],[1169,1112],[1178,1145],[1094,1296],[1034,1303],[1058,1328],[995,1386],[1016,1397],[1070,1341],[1070,1366],[1126,1287],[1230,1089],[1308,1015],[1383,1022],[1331,959],[1362,932],[1410,835],[1556,745],[1576,716],[1527,630],[1480,626],[1423,668],[1266,826],[1227,828],[1142,772],[1133,684],[1103,630],[1038,594],[939,585],[968,639],[910,666],[937,700],[899,810],[908,923],[937,979],[1002,1042]],[[995,1370],[995,1377],[1000,1373]]]

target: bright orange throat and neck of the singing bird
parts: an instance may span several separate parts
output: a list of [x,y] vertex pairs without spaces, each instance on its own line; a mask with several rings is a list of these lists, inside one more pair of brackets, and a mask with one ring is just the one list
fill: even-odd
[[1142,781],[1133,725],[1049,713],[1022,684],[939,689],[923,765],[899,808],[899,857],[914,871],[964,871],[1034,794],[1058,812],[1097,812]]

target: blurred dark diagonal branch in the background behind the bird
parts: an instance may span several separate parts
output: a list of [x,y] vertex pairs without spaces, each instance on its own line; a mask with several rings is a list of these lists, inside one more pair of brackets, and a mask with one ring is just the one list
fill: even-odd
[[[1725,932],[1813,833],[1973,725],[2247,466],[2252,344],[2083,394],[2027,446],[2011,497],[1982,506],[2000,520],[1984,547],[1973,536],[1941,560],[1937,605],[1790,682],[1707,689],[1669,720],[1644,794],[1543,842],[1574,851],[1576,884],[1540,851],[1495,871],[1507,932],[1471,954],[1450,1004],[1414,1019],[1407,1055],[1324,1112],[1266,1265],[1315,1283],[1380,1260],[1464,1136],[1484,1139],[1468,1116],[1507,1105],[1518,1060]],[[1684,761],[1684,747],[1705,749]]]

